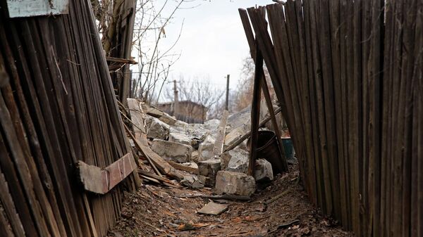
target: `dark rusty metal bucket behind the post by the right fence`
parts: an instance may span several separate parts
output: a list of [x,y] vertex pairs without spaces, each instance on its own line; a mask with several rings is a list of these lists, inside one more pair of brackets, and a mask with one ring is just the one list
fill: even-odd
[[[250,146],[250,139],[248,139]],[[283,172],[281,162],[281,149],[278,146],[276,134],[272,131],[259,131],[259,139],[257,141],[257,159],[265,159],[271,163],[274,174]]]

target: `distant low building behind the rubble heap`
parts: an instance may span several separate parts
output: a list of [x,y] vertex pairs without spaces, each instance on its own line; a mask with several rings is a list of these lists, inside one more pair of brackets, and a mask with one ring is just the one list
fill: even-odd
[[179,111],[176,115],[173,109],[173,102],[159,103],[157,108],[175,116],[177,120],[188,123],[204,123],[207,119],[207,110],[209,110],[206,106],[192,101],[179,101]]

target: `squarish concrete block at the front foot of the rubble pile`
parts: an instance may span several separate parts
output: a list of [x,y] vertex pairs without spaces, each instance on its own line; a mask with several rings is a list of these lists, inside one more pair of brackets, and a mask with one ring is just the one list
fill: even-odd
[[216,176],[216,193],[251,196],[255,192],[255,179],[247,174],[219,171]]

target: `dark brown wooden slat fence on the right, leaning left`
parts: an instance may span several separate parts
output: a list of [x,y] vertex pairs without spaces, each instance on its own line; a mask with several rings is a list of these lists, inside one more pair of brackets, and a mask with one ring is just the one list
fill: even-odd
[[309,199],[356,236],[423,236],[423,1],[288,0],[240,15]]

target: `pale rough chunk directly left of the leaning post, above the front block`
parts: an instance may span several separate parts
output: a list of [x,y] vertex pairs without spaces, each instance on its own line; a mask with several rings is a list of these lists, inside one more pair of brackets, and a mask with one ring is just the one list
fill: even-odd
[[250,153],[246,150],[235,148],[223,153],[221,157],[223,157],[224,160],[229,160],[228,166],[225,170],[247,173]]

